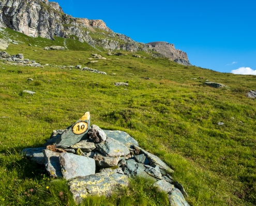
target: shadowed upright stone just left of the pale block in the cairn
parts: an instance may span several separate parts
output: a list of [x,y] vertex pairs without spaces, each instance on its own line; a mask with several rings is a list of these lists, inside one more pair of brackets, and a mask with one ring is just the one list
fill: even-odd
[[63,177],[61,164],[59,163],[59,155],[61,155],[61,153],[44,149],[43,155],[46,159],[45,165],[48,174],[52,177]]

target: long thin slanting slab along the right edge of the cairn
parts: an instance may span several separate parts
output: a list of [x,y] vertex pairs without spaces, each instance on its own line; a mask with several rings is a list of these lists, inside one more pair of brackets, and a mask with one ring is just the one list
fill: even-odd
[[152,155],[151,153],[145,151],[144,149],[138,147],[137,145],[133,145],[135,150],[140,151],[140,153],[143,153],[149,160],[151,166],[159,166],[160,169],[163,169],[164,171],[167,171],[167,173],[173,173],[174,171],[165,164],[159,157]]

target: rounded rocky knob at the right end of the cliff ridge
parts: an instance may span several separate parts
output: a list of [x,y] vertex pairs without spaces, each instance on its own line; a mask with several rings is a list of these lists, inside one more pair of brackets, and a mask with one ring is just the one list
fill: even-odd
[[168,42],[150,42],[151,45],[158,53],[162,54],[164,57],[169,57],[171,60],[190,66],[187,53],[182,50],[175,49],[174,44]]

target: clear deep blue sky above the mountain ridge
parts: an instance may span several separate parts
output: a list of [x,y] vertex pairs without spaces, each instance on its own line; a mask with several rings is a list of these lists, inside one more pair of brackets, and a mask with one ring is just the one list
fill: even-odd
[[219,72],[256,70],[255,0],[57,2],[65,13],[101,19],[135,41],[173,43],[193,65]]

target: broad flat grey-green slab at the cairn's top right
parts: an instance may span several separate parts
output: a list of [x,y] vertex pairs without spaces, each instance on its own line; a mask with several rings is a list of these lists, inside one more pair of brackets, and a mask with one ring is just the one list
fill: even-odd
[[128,133],[119,131],[119,130],[103,130],[109,138],[115,139],[123,143],[128,148],[131,148],[132,145],[139,146],[138,142],[134,140]]

